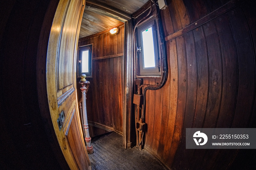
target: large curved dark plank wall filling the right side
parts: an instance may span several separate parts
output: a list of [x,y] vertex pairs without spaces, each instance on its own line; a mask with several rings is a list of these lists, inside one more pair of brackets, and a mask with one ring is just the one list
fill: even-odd
[[146,93],[145,150],[171,169],[255,168],[255,150],[185,148],[186,128],[256,127],[255,2],[166,1],[169,73]]

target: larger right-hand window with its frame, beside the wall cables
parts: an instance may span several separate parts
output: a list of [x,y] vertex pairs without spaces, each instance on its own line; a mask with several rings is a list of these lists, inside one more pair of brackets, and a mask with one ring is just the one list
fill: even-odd
[[139,76],[159,76],[158,36],[156,19],[152,18],[137,27]]

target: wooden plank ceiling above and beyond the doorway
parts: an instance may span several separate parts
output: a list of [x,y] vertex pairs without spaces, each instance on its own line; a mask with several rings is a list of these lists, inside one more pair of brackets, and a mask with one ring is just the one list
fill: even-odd
[[[97,34],[126,20],[115,15],[131,16],[148,0],[88,0],[84,8],[79,38]],[[108,12],[108,9],[110,11]],[[125,18],[125,17],[124,17]]]

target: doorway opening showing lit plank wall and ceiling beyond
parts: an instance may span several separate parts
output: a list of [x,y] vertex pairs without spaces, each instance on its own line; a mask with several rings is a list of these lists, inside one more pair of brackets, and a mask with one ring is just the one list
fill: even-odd
[[[99,3],[86,1],[79,32],[77,54],[77,96],[82,102],[80,74],[83,61],[79,51],[89,49],[91,54],[87,61],[86,80],[90,87],[86,94],[87,119],[90,137],[115,131],[123,136],[123,146],[127,148],[125,105],[127,70],[127,26],[128,16],[111,11]],[[112,32],[115,30],[115,32]],[[81,113],[80,113],[81,114]],[[81,114],[81,117],[82,114]],[[81,123],[83,120],[81,120]]]

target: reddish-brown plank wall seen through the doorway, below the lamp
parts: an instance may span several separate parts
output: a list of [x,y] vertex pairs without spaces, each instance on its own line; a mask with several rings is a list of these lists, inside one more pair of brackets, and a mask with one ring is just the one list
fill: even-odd
[[90,81],[86,100],[90,136],[113,130],[123,134],[124,23],[117,27],[117,34],[106,30],[78,42],[78,46],[93,44],[92,77],[86,78]]

